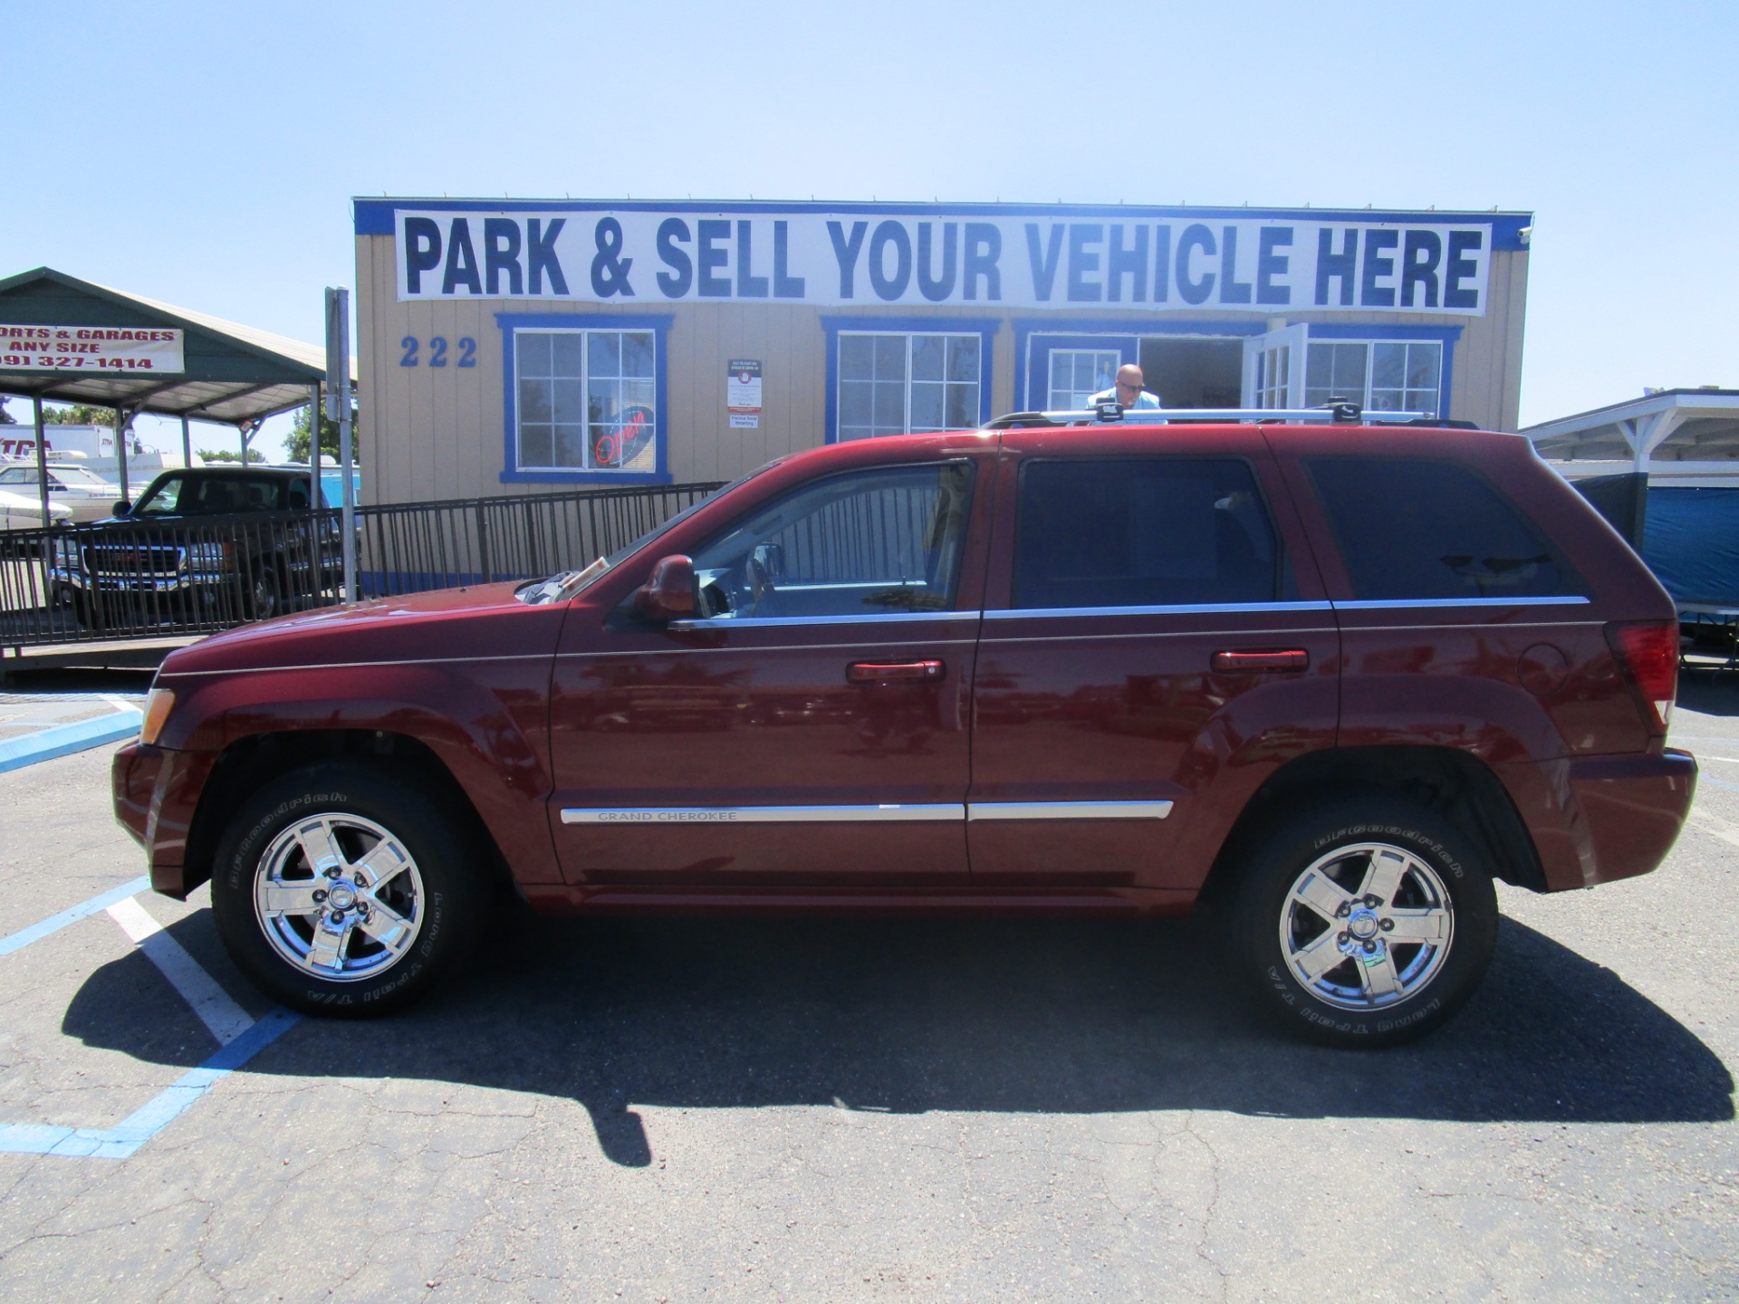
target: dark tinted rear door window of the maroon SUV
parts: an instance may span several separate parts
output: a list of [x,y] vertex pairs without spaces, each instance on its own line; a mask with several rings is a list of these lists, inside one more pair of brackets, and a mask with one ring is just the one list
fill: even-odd
[[1016,607],[1273,602],[1280,549],[1233,459],[1068,459],[1021,468]]

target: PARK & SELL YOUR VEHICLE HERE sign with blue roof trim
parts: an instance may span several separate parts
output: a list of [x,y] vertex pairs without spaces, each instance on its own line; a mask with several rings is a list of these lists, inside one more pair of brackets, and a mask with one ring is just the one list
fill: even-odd
[[[417,207],[410,207],[417,205]],[[398,297],[1485,313],[1520,214],[358,200]],[[1525,240],[1525,236],[1522,236]]]

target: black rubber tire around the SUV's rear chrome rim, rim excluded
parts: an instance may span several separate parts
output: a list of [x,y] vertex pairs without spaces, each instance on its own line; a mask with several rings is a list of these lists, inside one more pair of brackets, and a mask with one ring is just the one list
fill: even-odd
[[[1449,892],[1449,955],[1429,982],[1372,1010],[1339,1008],[1292,972],[1280,923],[1299,876],[1337,847],[1386,843],[1424,861]],[[1497,942],[1497,894],[1480,845],[1414,802],[1372,796],[1294,814],[1263,838],[1245,868],[1231,942],[1263,1003],[1292,1031],[1336,1047],[1410,1041],[1450,1019],[1478,989]]]

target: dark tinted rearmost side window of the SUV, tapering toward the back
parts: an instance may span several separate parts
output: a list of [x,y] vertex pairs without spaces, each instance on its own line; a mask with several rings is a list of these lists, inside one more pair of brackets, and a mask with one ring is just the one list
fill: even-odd
[[1363,600],[1551,598],[1576,577],[1527,518],[1466,466],[1417,457],[1308,462]]

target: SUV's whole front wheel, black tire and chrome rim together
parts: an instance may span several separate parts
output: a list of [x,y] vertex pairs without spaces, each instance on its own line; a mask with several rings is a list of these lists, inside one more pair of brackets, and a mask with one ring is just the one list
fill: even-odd
[[[343,859],[325,861],[336,875],[310,869],[322,838],[337,842]],[[391,770],[325,762],[271,781],[230,821],[212,913],[237,965],[285,1005],[372,1017],[419,1000],[470,953],[485,864],[464,826]]]

